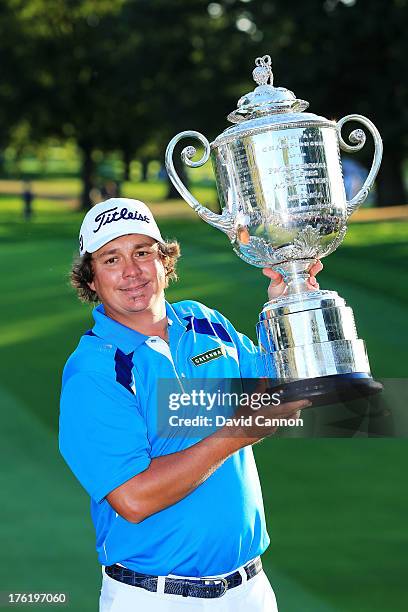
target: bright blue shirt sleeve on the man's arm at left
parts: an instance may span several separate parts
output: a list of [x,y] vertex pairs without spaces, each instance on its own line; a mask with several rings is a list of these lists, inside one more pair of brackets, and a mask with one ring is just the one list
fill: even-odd
[[59,444],[98,503],[150,464],[146,423],[135,395],[96,372],[75,373],[63,385]]

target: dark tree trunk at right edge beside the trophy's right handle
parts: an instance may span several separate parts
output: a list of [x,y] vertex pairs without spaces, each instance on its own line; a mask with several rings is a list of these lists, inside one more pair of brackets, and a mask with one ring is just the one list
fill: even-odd
[[378,206],[407,204],[407,193],[402,172],[403,155],[391,149],[383,157],[377,179]]

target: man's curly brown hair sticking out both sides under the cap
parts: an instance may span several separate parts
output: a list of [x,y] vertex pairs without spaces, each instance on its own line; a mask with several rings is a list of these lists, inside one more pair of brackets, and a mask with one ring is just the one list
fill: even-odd
[[[177,280],[176,264],[180,257],[180,245],[176,240],[159,242],[159,255],[166,272],[166,287],[169,281]],[[76,256],[71,268],[70,281],[76,289],[81,302],[99,302],[96,291],[92,291],[89,283],[93,281],[94,272],[92,268],[92,253],[84,253],[82,257]]]

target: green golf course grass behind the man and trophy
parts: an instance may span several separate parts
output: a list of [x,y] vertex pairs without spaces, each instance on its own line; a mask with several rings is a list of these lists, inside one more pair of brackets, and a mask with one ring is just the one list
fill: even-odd
[[[69,590],[68,608],[87,612],[100,578],[88,499],[56,447],[61,371],[91,325],[67,280],[80,215],[37,200],[25,224],[19,206],[0,200],[0,591]],[[161,226],[183,252],[170,301],[219,308],[254,338],[266,299],[261,272],[200,220]],[[406,222],[354,224],[320,274],[321,286],[353,307],[377,377],[407,375],[407,234]],[[405,610],[405,441],[272,438],[256,456],[271,535],[264,562],[280,611]]]

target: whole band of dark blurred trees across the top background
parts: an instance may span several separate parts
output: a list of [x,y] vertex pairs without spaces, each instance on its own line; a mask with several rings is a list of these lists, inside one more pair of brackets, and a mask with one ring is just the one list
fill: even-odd
[[4,0],[0,129],[20,118],[33,140],[75,138],[87,207],[95,149],[126,168],[147,150],[163,160],[181,130],[213,139],[270,53],[276,84],[312,111],[378,125],[379,202],[405,202],[407,12],[408,0]]

